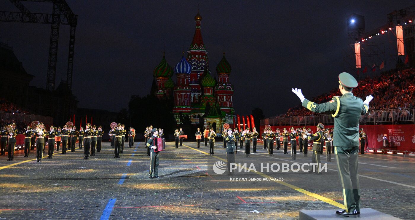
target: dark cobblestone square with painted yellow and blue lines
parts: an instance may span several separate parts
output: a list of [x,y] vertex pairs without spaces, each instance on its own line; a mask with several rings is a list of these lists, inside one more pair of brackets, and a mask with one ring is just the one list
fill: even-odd
[[[126,144],[121,158],[103,143],[103,151],[83,160],[83,149],[34,162],[16,152],[15,160],[0,157],[0,220],[4,219],[298,219],[299,210],[340,209],[343,196],[335,160],[327,173],[212,173],[215,161],[226,161],[222,142],[214,156],[208,147],[166,143],[160,154],[159,179],[149,179],[149,157],[143,142]],[[237,163],[310,163],[310,157],[282,150],[258,152]],[[325,162],[325,155],[322,161]],[[15,166],[7,166],[22,161]],[[402,219],[415,219],[415,158],[359,155],[361,208],[374,208]],[[256,165],[255,165],[256,166]],[[258,165],[259,167],[259,165]],[[266,181],[264,178],[284,178]],[[244,178],[247,178],[245,181]],[[254,179],[249,181],[249,178]],[[259,180],[261,179],[261,180]],[[364,215],[364,213],[362,213]]]

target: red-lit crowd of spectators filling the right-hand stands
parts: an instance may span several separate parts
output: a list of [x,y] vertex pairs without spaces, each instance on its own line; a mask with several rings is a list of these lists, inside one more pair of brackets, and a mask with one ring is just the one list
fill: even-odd
[[[368,95],[374,99],[370,103],[371,116],[369,117],[410,117],[407,108],[415,108],[415,69],[409,68],[400,71],[392,70],[381,73],[377,77],[367,77],[359,81],[359,86],[353,89],[353,94],[363,100]],[[315,103],[324,103],[333,96],[340,96],[338,88],[329,93],[319,95],[311,100]],[[376,110],[376,112],[375,112]],[[376,115],[377,114],[377,115]],[[317,115],[298,105],[279,115],[278,117],[296,117]]]

